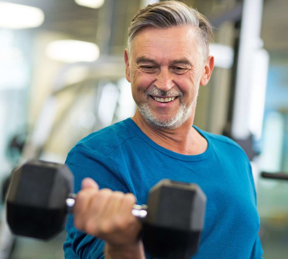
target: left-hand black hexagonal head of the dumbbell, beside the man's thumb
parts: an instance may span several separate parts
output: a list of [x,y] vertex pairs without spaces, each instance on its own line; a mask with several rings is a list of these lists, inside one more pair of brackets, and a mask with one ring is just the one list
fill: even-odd
[[16,235],[49,239],[63,230],[73,192],[67,166],[33,160],[16,168],[7,194],[7,222]]

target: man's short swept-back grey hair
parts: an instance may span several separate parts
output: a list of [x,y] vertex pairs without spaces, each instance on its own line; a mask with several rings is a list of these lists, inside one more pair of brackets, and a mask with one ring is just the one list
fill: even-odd
[[186,25],[197,28],[198,46],[202,48],[203,61],[206,60],[209,55],[209,45],[213,39],[212,27],[209,21],[196,9],[175,0],[147,5],[137,12],[128,28],[127,48],[129,58],[133,40],[141,28],[152,26],[158,29],[166,29]]

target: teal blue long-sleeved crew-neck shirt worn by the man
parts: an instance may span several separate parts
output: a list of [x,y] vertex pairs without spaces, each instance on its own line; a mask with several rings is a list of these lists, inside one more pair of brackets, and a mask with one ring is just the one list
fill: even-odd
[[[83,178],[91,177],[100,188],[133,193],[137,204],[145,204],[149,189],[163,178],[197,183],[207,206],[200,246],[192,258],[262,258],[256,193],[245,152],[225,136],[193,127],[208,142],[200,155],[159,146],[130,118],[88,135],[66,160],[75,176],[75,192]],[[104,258],[104,242],[78,231],[72,215],[66,231],[66,259]]]

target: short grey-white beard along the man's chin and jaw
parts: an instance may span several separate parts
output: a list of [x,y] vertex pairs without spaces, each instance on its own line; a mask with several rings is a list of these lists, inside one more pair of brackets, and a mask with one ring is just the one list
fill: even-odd
[[[147,98],[151,98],[150,94],[146,94]],[[163,95],[162,95],[163,96]],[[190,106],[186,106],[183,104],[183,94],[178,96],[180,98],[180,107],[177,113],[170,119],[158,119],[151,111],[150,107],[148,106],[148,101],[137,105],[137,108],[144,119],[152,126],[159,128],[159,129],[176,129],[180,127],[187,119],[190,117],[192,113],[192,108],[197,103],[198,91],[197,95],[195,96],[193,102]]]

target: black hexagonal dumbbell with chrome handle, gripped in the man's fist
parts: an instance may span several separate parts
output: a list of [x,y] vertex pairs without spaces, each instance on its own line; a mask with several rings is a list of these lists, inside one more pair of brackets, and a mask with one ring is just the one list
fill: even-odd
[[[66,165],[29,161],[13,172],[7,222],[16,235],[50,239],[64,229],[76,196]],[[198,249],[205,208],[198,185],[164,179],[151,188],[147,205],[134,205],[132,214],[142,219],[147,252],[189,258]]]

